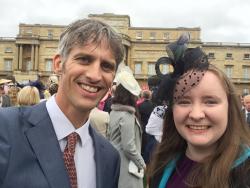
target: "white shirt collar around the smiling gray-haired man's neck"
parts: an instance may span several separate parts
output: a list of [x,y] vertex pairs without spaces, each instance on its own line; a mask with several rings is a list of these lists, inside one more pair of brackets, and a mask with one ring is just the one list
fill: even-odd
[[52,121],[56,136],[58,141],[64,139],[72,132],[77,132],[80,136],[80,143],[84,145],[88,139],[90,139],[89,134],[89,119],[78,129],[75,129],[73,124],[64,115],[62,110],[56,103],[55,95],[50,97],[46,102],[46,108],[48,110],[50,119]]

